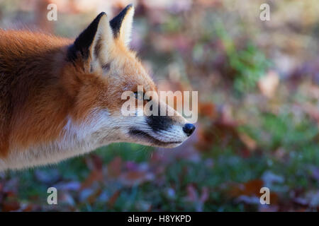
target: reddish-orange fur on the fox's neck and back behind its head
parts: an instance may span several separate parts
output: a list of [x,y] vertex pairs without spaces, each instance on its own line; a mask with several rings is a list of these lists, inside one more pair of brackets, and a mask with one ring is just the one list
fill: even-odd
[[72,97],[59,84],[70,41],[32,32],[0,30],[0,155],[60,133]]

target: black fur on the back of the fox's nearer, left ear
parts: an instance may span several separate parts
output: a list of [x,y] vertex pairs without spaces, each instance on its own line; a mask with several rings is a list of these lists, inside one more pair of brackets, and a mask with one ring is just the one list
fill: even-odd
[[89,48],[96,35],[101,17],[105,14],[106,13],[102,12],[96,16],[92,23],[77,37],[74,43],[69,46],[67,50],[67,59],[69,61],[76,60],[79,54],[81,54],[84,59],[89,57]]

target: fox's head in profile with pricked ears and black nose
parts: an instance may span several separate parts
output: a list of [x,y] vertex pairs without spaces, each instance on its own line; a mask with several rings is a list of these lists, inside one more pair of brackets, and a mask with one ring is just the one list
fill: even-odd
[[[133,14],[132,5],[111,21],[106,13],[100,13],[68,47],[62,82],[74,99],[70,120],[77,125],[78,136],[89,137],[97,146],[130,142],[174,148],[193,133],[195,126],[165,102],[152,97],[158,109],[172,110],[173,116],[139,116],[139,111],[147,111],[143,106],[135,115],[121,112],[126,101],[121,98],[123,92],[132,91],[138,98],[139,85],[142,95],[157,92],[152,78],[128,47]],[[146,103],[143,100],[143,105]]]

